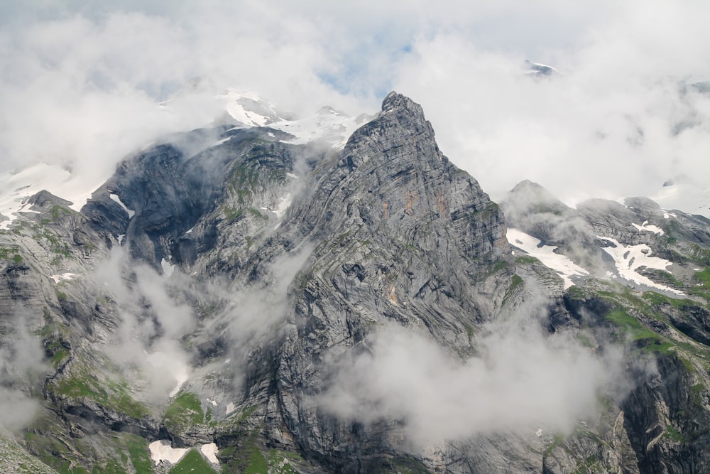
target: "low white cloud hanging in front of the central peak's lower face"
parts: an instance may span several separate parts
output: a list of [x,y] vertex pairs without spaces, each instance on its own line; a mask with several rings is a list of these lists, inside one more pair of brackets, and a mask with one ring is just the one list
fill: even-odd
[[[525,312],[531,311],[531,312]],[[569,333],[543,334],[542,308],[481,328],[479,355],[461,360],[430,338],[388,325],[332,362],[317,399],[341,419],[396,419],[427,446],[478,434],[569,432],[623,389],[621,352],[595,355]]]

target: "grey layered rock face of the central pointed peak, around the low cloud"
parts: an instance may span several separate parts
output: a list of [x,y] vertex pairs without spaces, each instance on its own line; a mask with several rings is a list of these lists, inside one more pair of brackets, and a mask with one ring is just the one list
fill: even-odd
[[[322,388],[317,367],[388,321],[470,353],[466,327],[495,314],[512,276],[480,275],[509,254],[503,216],[442,155],[421,107],[392,93],[288,225],[289,236],[317,247],[302,271],[293,329],[278,355],[286,426],[303,449],[337,470],[374,469],[383,450],[394,450],[387,447],[392,435],[383,431],[375,441],[369,431],[353,433],[351,423],[323,426],[308,402]],[[364,446],[359,465],[351,459],[354,443]]]

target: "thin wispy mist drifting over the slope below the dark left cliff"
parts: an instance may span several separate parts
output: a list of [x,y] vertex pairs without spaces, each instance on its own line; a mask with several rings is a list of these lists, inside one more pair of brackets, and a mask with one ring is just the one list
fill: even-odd
[[[179,267],[158,274],[126,247],[114,247],[89,276],[116,315],[115,328],[99,330],[98,344],[145,402],[163,406],[180,389],[200,390],[200,377],[215,371],[229,392],[221,395],[239,401],[253,352],[283,335],[288,288],[311,251],[305,245],[264,262],[259,283],[245,285],[222,276],[194,279]],[[224,352],[209,355],[217,346]]]

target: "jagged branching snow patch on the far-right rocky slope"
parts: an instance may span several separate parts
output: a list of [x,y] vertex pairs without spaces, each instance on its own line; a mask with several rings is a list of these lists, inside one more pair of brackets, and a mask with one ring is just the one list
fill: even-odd
[[637,270],[642,266],[650,269],[667,271],[667,268],[672,265],[672,262],[669,262],[668,260],[660,259],[658,257],[650,257],[652,250],[648,247],[648,245],[623,245],[616,239],[611,239],[610,237],[599,237],[599,239],[606,240],[606,242],[611,242],[611,244],[613,244],[613,246],[610,247],[603,247],[603,250],[614,259],[616,271],[618,271],[621,278],[633,281],[635,284],[650,286],[651,288],[663,291],[670,291],[671,293],[675,293],[677,295],[683,294],[682,291],[672,289],[670,286],[657,284],[651,279],[638,273]]

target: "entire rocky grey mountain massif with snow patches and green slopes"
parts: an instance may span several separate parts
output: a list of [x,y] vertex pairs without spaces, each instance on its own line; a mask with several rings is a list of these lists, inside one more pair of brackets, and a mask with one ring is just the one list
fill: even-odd
[[493,203],[395,92],[227,99],[9,209],[4,472],[709,469],[710,220]]

